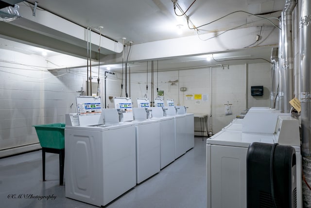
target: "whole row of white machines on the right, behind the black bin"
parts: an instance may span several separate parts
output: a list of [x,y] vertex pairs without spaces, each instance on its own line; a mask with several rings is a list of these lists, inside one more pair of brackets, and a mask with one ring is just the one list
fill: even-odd
[[207,208],[247,207],[246,156],[252,142],[294,147],[297,207],[302,207],[298,120],[288,113],[257,108],[232,124],[237,125],[229,124],[207,139]]

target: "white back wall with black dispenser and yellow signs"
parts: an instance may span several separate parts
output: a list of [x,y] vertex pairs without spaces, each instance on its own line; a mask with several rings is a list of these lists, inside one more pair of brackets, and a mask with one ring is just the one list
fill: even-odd
[[[212,79],[210,79],[212,70]],[[248,73],[246,73],[248,72]],[[245,82],[245,73],[248,74]],[[156,78],[158,77],[158,83]],[[176,81],[178,82],[172,82]],[[187,112],[197,114],[212,113],[213,133],[219,132],[225,125],[230,123],[236,115],[253,106],[270,105],[270,80],[271,64],[230,65],[228,68],[215,67],[206,69],[192,69],[181,71],[159,72],[154,74],[154,96],[156,88],[164,91],[164,99],[174,99],[175,105],[189,107]],[[146,90],[147,73],[132,73],[131,92],[134,107],[137,107],[137,97],[147,97],[151,100],[151,73],[148,73],[148,92]],[[210,90],[212,82],[212,95]],[[263,85],[264,95],[252,97],[250,86]],[[180,92],[180,87],[186,87],[186,92]],[[128,88],[129,89],[129,88]],[[247,90],[247,91],[246,91]],[[248,93],[246,95],[246,92]],[[187,100],[187,94],[207,94],[207,101]],[[125,94],[123,94],[125,96]],[[212,112],[211,102],[212,99]],[[246,106],[246,99],[248,105]],[[225,115],[225,104],[232,104],[232,115]],[[210,122],[210,121],[209,121]],[[196,120],[196,130],[200,128],[199,120]]]

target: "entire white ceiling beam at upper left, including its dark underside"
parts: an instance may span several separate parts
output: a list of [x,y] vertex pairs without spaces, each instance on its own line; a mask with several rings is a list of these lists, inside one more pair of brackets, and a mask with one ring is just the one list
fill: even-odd
[[[21,18],[10,22],[0,21],[0,37],[85,58],[87,53],[87,28],[46,10],[39,9],[39,7],[36,8],[34,15],[33,8],[21,4],[19,6]],[[101,36],[96,28],[91,31],[91,36],[91,57],[94,60],[99,59],[98,47],[100,39],[101,57],[121,53],[123,50],[123,45],[120,42]]]

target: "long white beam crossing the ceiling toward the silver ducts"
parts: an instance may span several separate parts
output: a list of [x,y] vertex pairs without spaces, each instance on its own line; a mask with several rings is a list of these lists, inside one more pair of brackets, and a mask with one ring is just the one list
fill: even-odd
[[[182,57],[191,55],[201,55],[214,52],[224,52],[239,50],[255,43],[256,35],[259,34],[260,27],[249,27],[225,32],[216,38],[211,38],[220,34],[209,33],[201,35],[201,39],[211,38],[203,41],[198,36],[159,40],[154,42],[133,45],[129,55],[129,61],[161,59],[167,57]],[[278,44],[279,29],[272,26],[262,28],[259,41],[252,46],[267,46]],[[109,55],[103,57],[101,61],[106,63],[121,62],[122,56]]]

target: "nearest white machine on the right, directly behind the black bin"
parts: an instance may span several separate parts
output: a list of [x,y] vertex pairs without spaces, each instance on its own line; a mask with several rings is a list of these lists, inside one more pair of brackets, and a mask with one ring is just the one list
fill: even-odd
[[[258,115],[255,115],[258,116]],[[273,115],[274,116],[274,115]],[[281,117],[281,116],[279,116]],[[270,120],[261,120],[262,126],[266,123],[274,123]],[[264,133],[258,126],[261,133],[222,130],[207,139],[207,208],[246,208],[246,155],[248,146],[252,142],[279,143],[292,145],[296,151],[297,168],[297,207],[302,207],[301,200],[301,154],[299,141],[299,127],[296,125],[293,131],[291,128],[281,128],[277,119],[274,124],[276,133]],[[250,125],[250,129],[253,129]],[[280,132],[280,129],[291,129],[289,132]],[[270,128],[267,130],[270,131]],[[284,141],[283,135],[290,134],[291,140],[298,139],[298,142],[290,144]],[[280,136],[279,136],[280,135]],[[281,138],[281,139],[280,139]],[[300,174],[299,174],[300,173]]]

